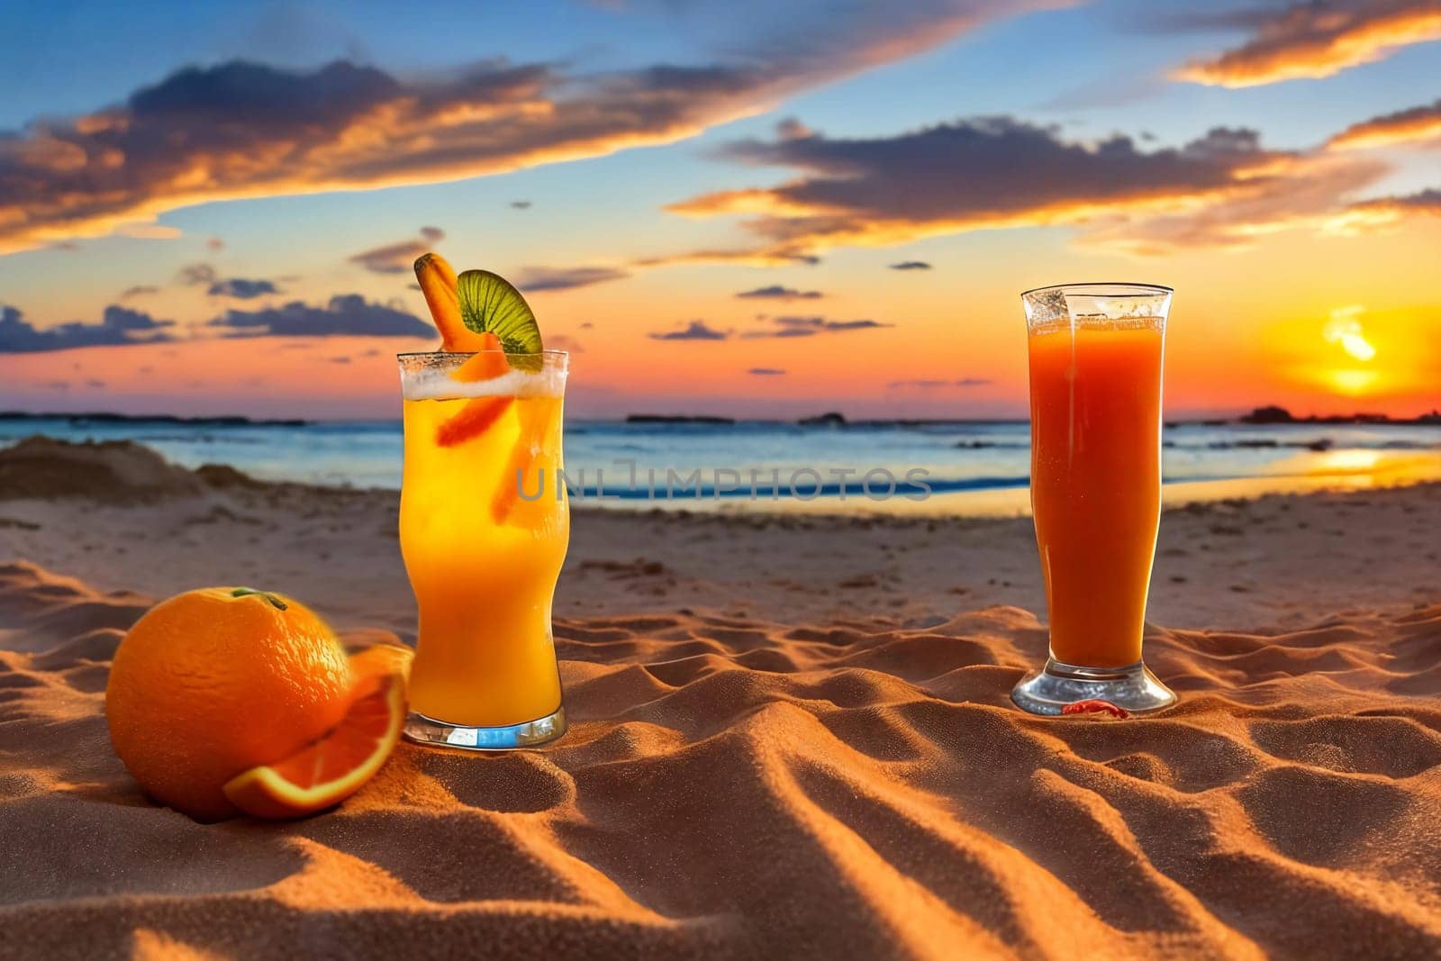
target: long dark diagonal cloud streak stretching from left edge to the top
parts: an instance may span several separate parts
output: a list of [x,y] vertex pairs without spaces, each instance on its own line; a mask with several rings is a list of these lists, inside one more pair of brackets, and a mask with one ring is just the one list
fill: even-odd
[[673,143],[1016,12],[999,0],[857,7],[817,10],[784,42],[697,66],[581,75],[493,59],[416,79],[349,61],[187,66],[114,107],[0,133],[0,252],[215,200],[437,183]]

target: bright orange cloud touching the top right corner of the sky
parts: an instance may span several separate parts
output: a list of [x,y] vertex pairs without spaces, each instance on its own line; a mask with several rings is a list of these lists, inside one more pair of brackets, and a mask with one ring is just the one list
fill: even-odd
[[1177,79],[1215,86],[1258,86],[1331,76],[1386,58],[1396,48],[1441,39],[1435,0],[1297,3],[1259,16],[1241,46],[1189,63]]

